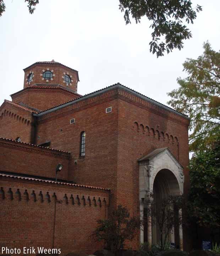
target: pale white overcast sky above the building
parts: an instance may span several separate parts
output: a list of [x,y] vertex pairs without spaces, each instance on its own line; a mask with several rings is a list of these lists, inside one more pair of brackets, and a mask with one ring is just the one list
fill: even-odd
[[23,68],[36,61],[55,61],[78,70],[78,93],[86,94],[114,83],[134,89],[163,104],[167,92],[185,77],[182,63],[203,52],[209,40],[220,42],[220,1],[193,0],[203,11],[190,25],[193,37],[164,57],[149,52],[150,22],[125,25],[118,0],[40,0],[29,14],[23,0],[4,0],[0,17],[0,104],[23,89]]

